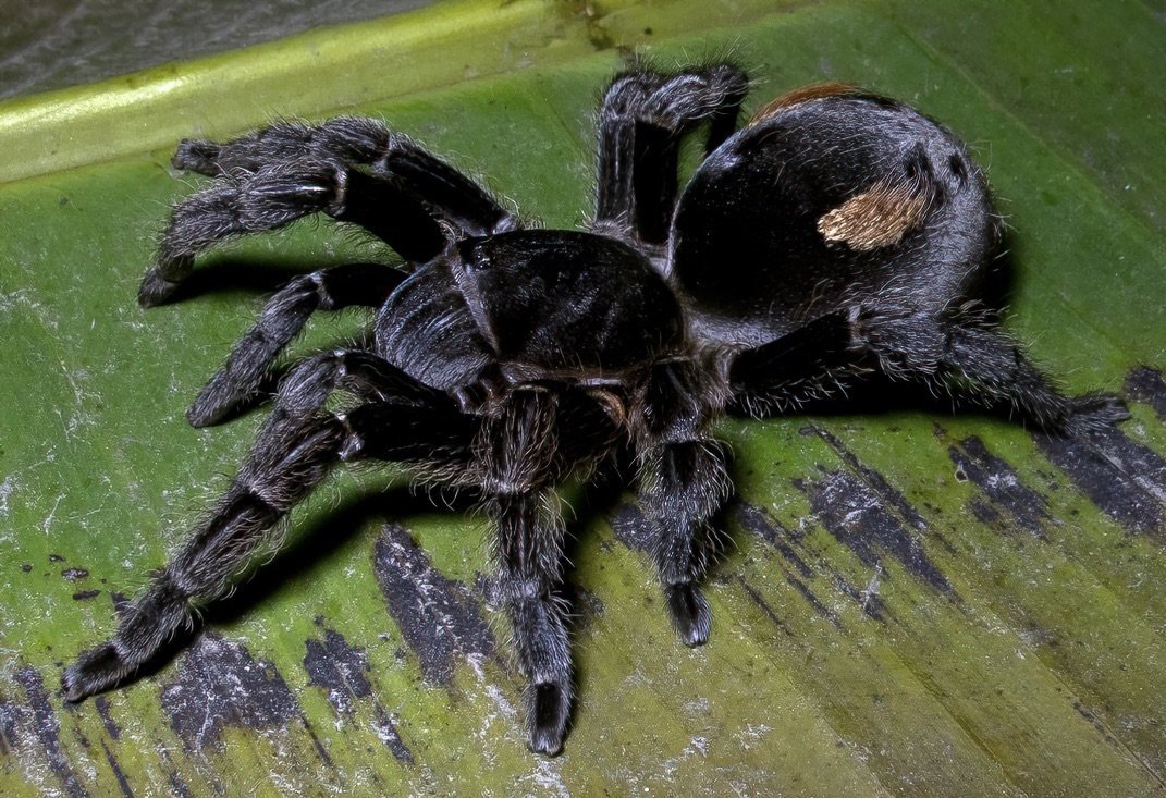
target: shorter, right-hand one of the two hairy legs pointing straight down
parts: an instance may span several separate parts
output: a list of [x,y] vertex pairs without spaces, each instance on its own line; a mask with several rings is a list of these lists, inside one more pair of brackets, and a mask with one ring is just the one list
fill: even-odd
[[644,399],[640,501],[655,526],[653,556],[669,616],[686,645],[709,637],[711,615],[700,580],[716,553],[712,518],[731,492],[722,446],[708,433],[704,384],[691,360],[653,368]]

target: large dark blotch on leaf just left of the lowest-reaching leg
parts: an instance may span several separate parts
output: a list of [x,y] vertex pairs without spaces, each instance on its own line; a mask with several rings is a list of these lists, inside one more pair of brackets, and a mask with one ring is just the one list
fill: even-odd
[[434,569],[405,527],[385,525],[372,565],[426,681],[448,685],[458,656],[493,653],[493,636],[470,592]]

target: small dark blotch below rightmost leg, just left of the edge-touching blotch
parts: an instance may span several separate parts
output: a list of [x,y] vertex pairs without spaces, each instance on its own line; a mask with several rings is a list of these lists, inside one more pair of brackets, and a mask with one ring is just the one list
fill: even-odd
[[[982,440],[975,435],[965,438],[960,441],[958,447],[948,447],[948,456],[991,502],[993,509],[1007,511],[1023,528],[1037,538],[1045,538],[1044,524],[1049,519],[1048,501],[1021,483],[1016,470],[991,454]],[[969,509],[979,520],[993,526],[999,520],[999,514],[985,508],[978,498],[969,503]],[[1011,525],[1005,525],[1004,528],[1011,528]]]

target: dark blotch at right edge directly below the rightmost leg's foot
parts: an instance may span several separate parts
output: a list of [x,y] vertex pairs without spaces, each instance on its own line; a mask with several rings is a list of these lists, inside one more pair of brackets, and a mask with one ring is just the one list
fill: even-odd
[[1160,532],[1166,461],[1117,429],[1062,438],[1038,433],[1037,446],[1102,512],[1130,532]]

